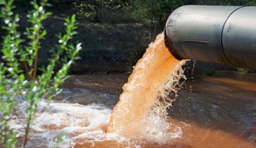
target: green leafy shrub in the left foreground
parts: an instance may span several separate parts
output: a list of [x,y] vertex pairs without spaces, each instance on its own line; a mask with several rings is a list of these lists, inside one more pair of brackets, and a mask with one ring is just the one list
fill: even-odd
[[[56,43],[55,48],[50,50],[52,56],[48,59],[49,64],[37,67],[38,53],[41,49],[40,41],[47,33],[42,21],[51,13],[45,12],[45,7],[48,6],[47,0],[40,1],[40,4],[34,0],[32,4],[33,11],[28,14],[28,22],[31,26],[26,28],[26,39],[21,39],[17,31],[19,15],[12,12],[13,0],[0,0],[0,17],[5,23],[2,29],[6,30],[1,46],[0,63],[0,146],[3,147],[15,147],[17,142],[17,134],[8,123],[17,108],[15,98],[26,98],[29,104],[26,136],[23,142],[23,147],[25,147],[37,103],[42,98],[51,99],[62,91],[59,86],[68,78],[68,69],[77,59],[77,54],[82,48],[81,43],[75,46],[69,43],[76,34],[74,30],[77,28],[75,15],[73,15],[71,18],[64,19],[66,33],[57,35],[59,43]],[[57,63],[61,65],[59,70],[55,70]]]

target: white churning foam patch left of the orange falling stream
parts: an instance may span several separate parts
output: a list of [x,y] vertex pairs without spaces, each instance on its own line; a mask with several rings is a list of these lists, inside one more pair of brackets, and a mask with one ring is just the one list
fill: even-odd
[[[10,125],[19,136],[24,136],[26,127],[26,107],[23,102],[17,109],[18,116],[12,116]],[[36,118],[31,125],[30,140],[26,147],[54,147],[58,135],[66,135],[61,147],[72,147],[77,139],[87,142],[116,140],[125,138],[115,134],[105,134],[109,124],[111,109],[104,105],[66,104],[43,100],[39,102]]]

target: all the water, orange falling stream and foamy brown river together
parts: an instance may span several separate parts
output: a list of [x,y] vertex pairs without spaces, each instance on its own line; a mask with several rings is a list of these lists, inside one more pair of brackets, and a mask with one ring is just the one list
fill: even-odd
[[[183,63],[161,34],[128,82],[125,74],[71,76],[60,96],[39,103],[27,147],[54,147],[57,135],[65,135],[60,147],[256,147],[256,75],[221,72],[181,88]],[[22,137],[19,103],[10,123]]]

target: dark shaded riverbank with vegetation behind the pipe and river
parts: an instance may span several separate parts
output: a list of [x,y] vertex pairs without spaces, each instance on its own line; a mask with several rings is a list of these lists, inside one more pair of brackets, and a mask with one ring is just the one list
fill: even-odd
[[[14,10],[19,13],[20,26],[24,30],[29,25],[26,13],[30,12],[30,0],[17,0]],[[157,34],[163,32],[165,21],[173,10],[183,5],[228,5],[256,6],[251,0],[51,0],[52,7],[46,11],[53,15],[43,21],[44,28],[50,30],[42,41],[39,65],[47,64],[47,57],[58,40],[55,36],[64,30],[64,18],[77,15],[79,22],[75,40],[82,41],[84,47],[81,59],[71,67],[72,74],[131,72],[132,66],[145,52],[148,44]],[[2,22],[3,23],[3,22]],[[1,21],[0,21],[1,24]],[[0,34],[3,34],[1,31]],[[22,34],[21,34],[22,36]],[[0,39],[1,40],[1,39]]]

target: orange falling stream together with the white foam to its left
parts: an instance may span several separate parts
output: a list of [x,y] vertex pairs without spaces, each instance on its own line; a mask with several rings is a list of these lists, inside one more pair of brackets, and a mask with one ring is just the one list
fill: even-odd
[[[65,96],[62,103],[39,102],[26,147],[55,147],[57,136],[61,135],[65,135],[61,147],[106,147],[108,143],[109,147],[140,147],[145,145],[144,140],[155,145],[181,136],[181,127],[166,122],[166,108],[181,86],[179,79],[185,78],[181,69],[185,61],[174,59],[163,39],[164,35],[159,34],[138,61],[112,114],[111,108],[105,106],[106,101],[98,99],[104,105],[86,105],[91,98],[102,98],[102,94],[95,96],[86,89],[68,89],[62,93]],[[75,98],[71,103],[85,105],[68,104],[72,96]],[[28,103],[22,99],[19,103],[10,125],[19,137],[24,137]]]

